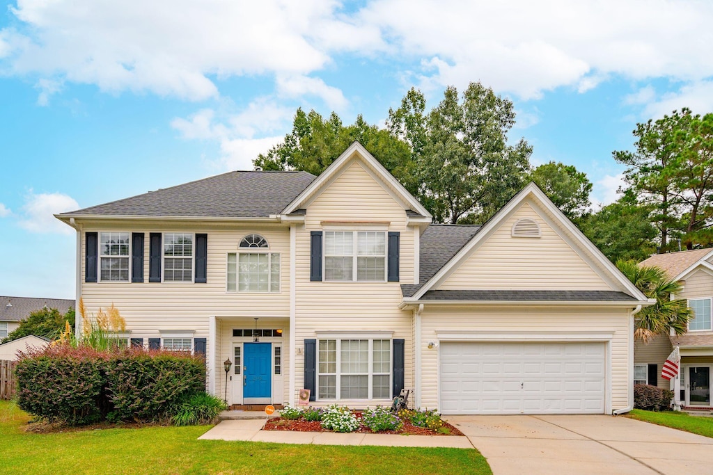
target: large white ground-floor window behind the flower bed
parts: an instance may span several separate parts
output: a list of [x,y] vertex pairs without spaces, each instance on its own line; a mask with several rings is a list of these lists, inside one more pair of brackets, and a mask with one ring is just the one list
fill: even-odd
[[389,399],[391,340],[319,340],[317,399]]

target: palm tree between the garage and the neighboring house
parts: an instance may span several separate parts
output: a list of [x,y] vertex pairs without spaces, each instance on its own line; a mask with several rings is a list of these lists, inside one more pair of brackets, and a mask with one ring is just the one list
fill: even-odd
[[671,300],[683,286],[656,266],[639,266],[635,261],[617,261],[617,267],[645,296],[655,298],[656,305],[642,308],[636,314],[634,337],[648,343],[655,335],[682,335],[688,329],[693,312],[684,299]]

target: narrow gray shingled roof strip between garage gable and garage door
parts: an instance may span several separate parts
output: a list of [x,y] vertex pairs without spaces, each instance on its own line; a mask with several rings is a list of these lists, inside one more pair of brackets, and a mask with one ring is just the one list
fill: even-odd
[[422,301],[636,302],[617,291],[427,291]]

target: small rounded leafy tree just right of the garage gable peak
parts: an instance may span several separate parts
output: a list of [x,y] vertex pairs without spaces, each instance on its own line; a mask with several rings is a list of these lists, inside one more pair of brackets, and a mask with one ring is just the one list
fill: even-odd
[[530,179],[569,219],[577,221],[588,212],[592,182],[573,165],[549,162],[533,169]]

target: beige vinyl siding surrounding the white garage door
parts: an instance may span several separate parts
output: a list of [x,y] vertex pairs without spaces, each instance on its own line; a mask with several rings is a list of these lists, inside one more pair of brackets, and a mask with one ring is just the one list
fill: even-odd
[[429,409],[438,406],[437,333],[502,332],[561,333],[567,331],[613,333],[611,340],[612,409],[629,405],[629,317],[623,309],[542,308],[542,307],[426,307],[422,314],[421,332],[421,405]]

